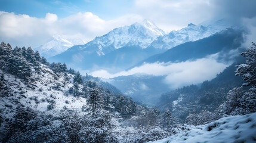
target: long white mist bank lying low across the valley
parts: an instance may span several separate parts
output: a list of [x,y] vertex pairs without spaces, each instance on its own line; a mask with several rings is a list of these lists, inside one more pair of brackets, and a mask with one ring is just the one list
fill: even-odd
[[106,70],[98,70],[92,72],[91,75],[103,78],[128,76],[138,73],[152,74],[155,76],[166,75],[165,82],[169,84],[171,88],[178,88],[180,86],[210,80],[227,66],[229,66],[229,64],[218,63],[214,58],[208,57],[181,63],[144,63],[140,67],[134,67],[131,70],[121,71],[115,74],[110,74]]

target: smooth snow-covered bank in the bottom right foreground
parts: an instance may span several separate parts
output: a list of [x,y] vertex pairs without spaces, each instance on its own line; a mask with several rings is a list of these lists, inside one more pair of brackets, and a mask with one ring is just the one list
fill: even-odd
[[171,142],[256,142],[256,113],[224,117],[209,125],[197,126],[155,143]]

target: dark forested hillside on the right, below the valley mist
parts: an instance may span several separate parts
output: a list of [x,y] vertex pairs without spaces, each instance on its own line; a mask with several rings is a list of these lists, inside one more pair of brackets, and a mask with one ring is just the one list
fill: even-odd
[[[252,70],[254,69],[255,53],[255,44],[253,43],[251,48],[242,53],[243,57],[236,58],[235,63],[220,74],[217,74],[214,79],[206,80],[201,85],[184,86],[162,94],[158,107],[162,108],[162,110],[168,108],[181,123],[189,125],[203,125],[219,119],[224,114],[231,114],[234,108],[241,104],[239,102],[242,101],[239,100],[241,100],[242,96],[250,95],[246,97],[248,98],[246,102],[253,101],[255,98],[255,93],[253,93],[255,88],[252,86],[254,82],[244,83],[244,80],[253,80],[255,73],[241,74],[239,71],[239,69],[247,67],[243,63],[249,62],[251,62],[249,67]],[[243,78],[239,75],[243,75]],[[248,75],[249,77],[246,77]],[[224,110],[223,106],[227,107],[223,104],[230,104],[230,102],[233,103],[229,111],[225,111],[226,109]],[[255,103],[253,104],[251,101],[250,106],[251,108],[256,107]],[[243,111],[240,112],[243,113]],[[232,114],[242,113],[233,112]],[[248,113],[252,112],[249,111]]]

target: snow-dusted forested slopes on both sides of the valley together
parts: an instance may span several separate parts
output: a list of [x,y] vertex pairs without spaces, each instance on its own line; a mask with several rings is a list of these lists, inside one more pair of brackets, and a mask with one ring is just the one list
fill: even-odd
[[[138,105],[97,77],[68,70],[65,63],[50,64],[30,47],[13,49],[2,42],[1,141],[147,142],[254,113],[255,48],[253,43],[242,53],[246,61],[238,60],[211,81],[162,94],[159,110]],[[242,83],[248,88],[239,87]]]

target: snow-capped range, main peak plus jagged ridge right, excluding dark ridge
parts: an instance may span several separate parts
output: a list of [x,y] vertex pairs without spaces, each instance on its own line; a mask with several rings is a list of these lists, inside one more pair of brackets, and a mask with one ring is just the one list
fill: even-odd
[[[225,27],[226,28],[226,27]],[[208,37],[224,26],[196,26],[190,23],[184,29],[165,34],[148,20],[131,26],[113,29],[85,45],[75,45],[49,61],[66,63],[75,69],[95,71],[104,69],[115,73],[125,70],[152,55],[165,52],[188,41]]]

